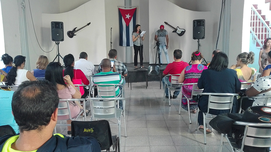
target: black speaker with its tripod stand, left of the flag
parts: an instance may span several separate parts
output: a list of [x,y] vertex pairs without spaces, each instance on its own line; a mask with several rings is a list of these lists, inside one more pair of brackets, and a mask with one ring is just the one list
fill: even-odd
[[[59,53],[59,43],[60,41],[64,41],[64,28],[63,28],[63,22],[51,22],[51,33],[52,33],[52,41],[55,41],[56,43],[56,49],[57,49],[57,55],[53,62],[58,58],[57,62],[59,61],[59,57],[62,58],[62,56]],[[63,59],[63,58],[62,58]]]

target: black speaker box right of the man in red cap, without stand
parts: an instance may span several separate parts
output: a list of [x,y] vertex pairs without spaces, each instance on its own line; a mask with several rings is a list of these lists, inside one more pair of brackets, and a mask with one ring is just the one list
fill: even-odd
[[205,38],[205,19],[193,20],[193,39]]

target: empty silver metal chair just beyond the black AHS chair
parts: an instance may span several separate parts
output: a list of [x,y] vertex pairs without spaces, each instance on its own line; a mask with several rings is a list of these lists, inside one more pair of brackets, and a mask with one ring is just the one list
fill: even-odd
[[[121,117],[124,115],[125,110],[118,108],[116,102],[117,100],[125,101],[125,98],[87,98],[87,100],[91,103],[91,118],[93,119],[117,119],[119,126],[119,137],[121,137]],[[123,102],[125,107],[125,102]],[[127,137],[126,133],[126,120],[124,116],[124,129],[125,129],[125,137]],[[121,138],[120,138],[120,147],[121,147]]]

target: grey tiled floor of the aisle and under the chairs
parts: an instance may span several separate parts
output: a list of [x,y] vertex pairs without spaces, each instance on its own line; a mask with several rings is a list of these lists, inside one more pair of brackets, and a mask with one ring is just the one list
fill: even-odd
[[[168,99],[163,100],[159,82],[149,82],[148,89],[145,82],[132,83],[132,90],[125,84],[125,94],[127,137],[124,136],[122,119],[122,152],[219,151],[221,134],[216,131],[207,134],[207,144],[203,144],[203,133],[195,130],[196,114],[191,114],[192,124],[189,124],[187,111],[181,109],[181,114],[178,114],[180,97],[172,99],[169,106]],[[118,126],[112,125],[111,131],[117,135]],[[57,127],[57,132],[67,135],[65,127]],[[228,145],[223,146],[222,151],[230,152],[229,149]]]

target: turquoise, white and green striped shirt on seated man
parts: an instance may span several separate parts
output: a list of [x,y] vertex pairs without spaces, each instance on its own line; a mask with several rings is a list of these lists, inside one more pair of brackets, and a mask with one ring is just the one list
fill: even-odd
[[[93,75],[94,84],[123,84],[120,73],[117,72],[100,72]],[[116,96],[120,94],[119,86],[115,86]],[[112,96],[114,97],[114,96]]]

